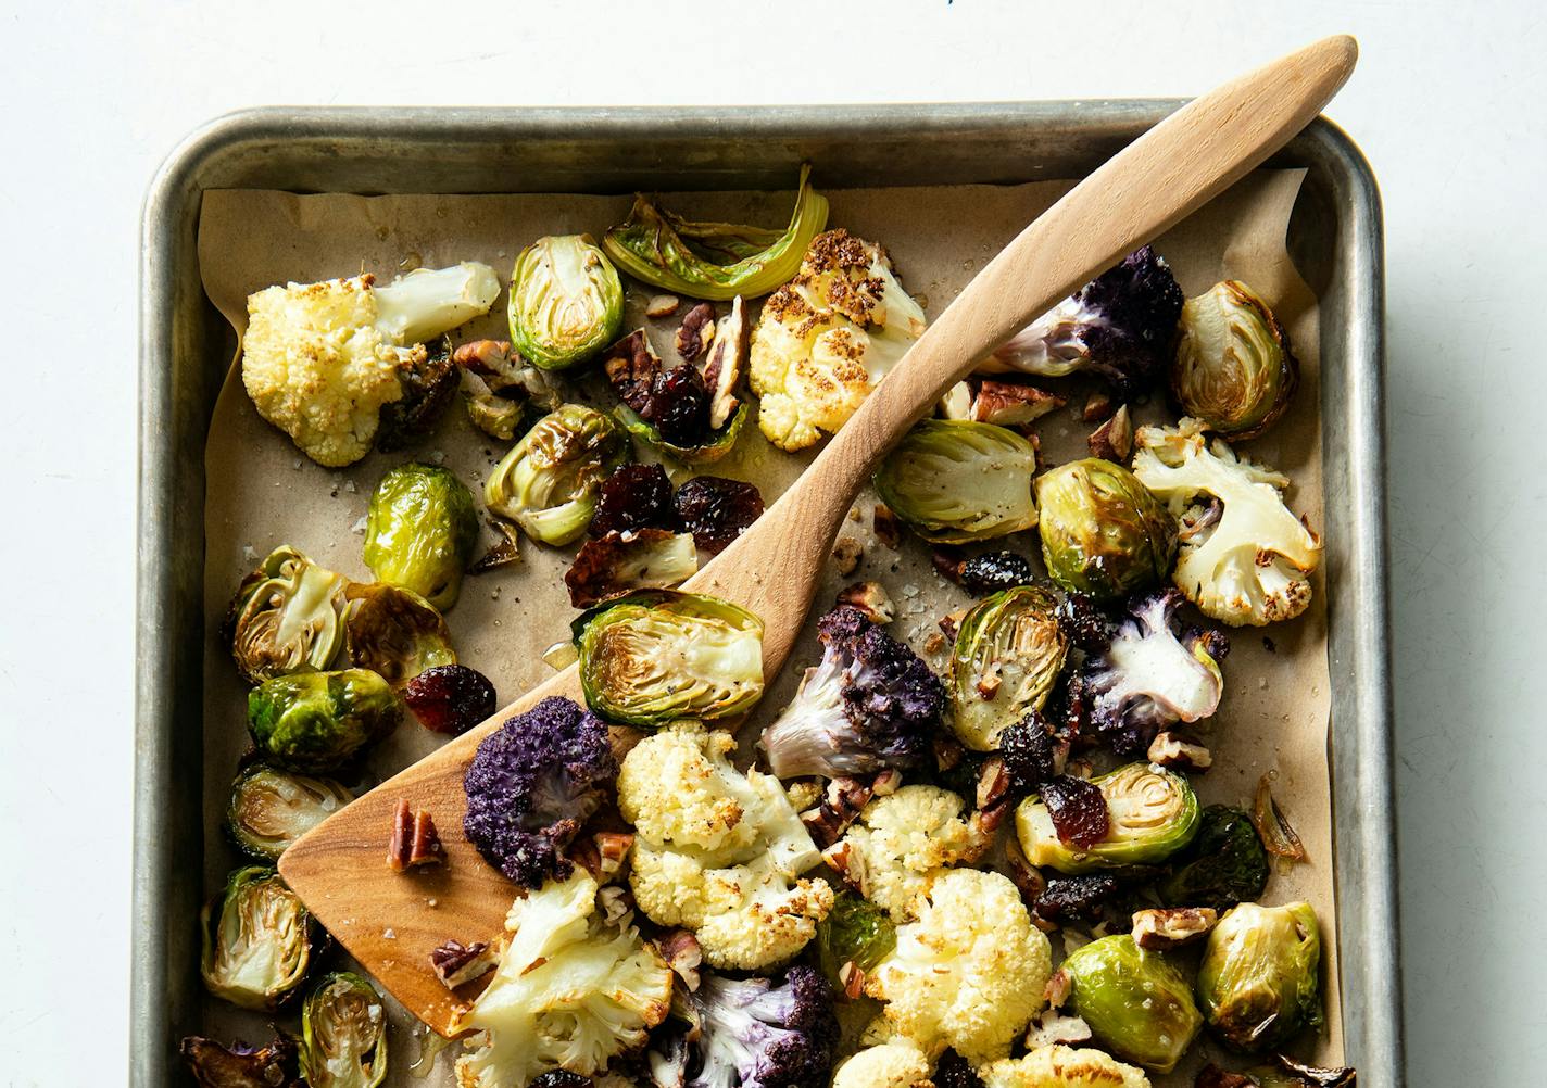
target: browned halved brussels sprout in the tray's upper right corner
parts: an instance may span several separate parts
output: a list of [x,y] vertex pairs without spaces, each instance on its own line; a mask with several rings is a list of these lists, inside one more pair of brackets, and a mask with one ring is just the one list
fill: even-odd
[[1252,287],[1225,280],[1182,306],[1171,393],[1208,430],[1256,437],[1284,414],[1298,383],[1289,334]]

